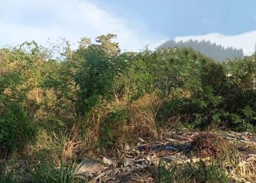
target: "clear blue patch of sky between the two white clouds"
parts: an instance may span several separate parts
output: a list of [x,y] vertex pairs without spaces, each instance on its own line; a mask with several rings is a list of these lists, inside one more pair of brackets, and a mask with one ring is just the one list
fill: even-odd
[[255,0],[103,1],[113,12],[175,37],[218,32],[236,35],[256,29]]

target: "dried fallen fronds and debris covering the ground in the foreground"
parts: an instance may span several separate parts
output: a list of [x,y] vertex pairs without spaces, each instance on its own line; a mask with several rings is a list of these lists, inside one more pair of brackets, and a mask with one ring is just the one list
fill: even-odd
[[[89,182],[154,182],[152,172],[160,159],[170,164],[172,162],[177,164],[197,161],[205,161],[209,164],[211,162],[211,157],[191,157],[189,154],[191,141],[198,134],[198,132],[183,134],[169,132],[166,134],[165,141],[145,141],[140,138],[137,146],[124,146],[120,159],[103,157],[102,162],[108,166],[106,169],[97,161],[85,159],[86,166],[83,166],[81,170],[87,173]],[[230,143],[237,145],[239,161],[236,167],[228,165],[228,176],[237,182],[255,182],[256,136],[237,132],[222,132],[220,135]],[[90,166],[92,164],[93,166]],[[77,164],[79,165],[81,166],[81,163]]]

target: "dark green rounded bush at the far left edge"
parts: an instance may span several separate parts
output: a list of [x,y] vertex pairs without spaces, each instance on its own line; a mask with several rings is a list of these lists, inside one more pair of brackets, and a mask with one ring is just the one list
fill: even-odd
[[36,128],[20,104],[6,106],[0,116],[0,152],[13,152],[22,149],[33,141]]

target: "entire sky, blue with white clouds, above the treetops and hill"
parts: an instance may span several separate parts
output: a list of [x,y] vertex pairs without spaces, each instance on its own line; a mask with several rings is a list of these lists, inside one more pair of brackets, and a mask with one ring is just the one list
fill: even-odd
[[256,0],[1,0],[0,45],[116,33],[122,49],[154,49],[164,40],[210,40],[251,54]]

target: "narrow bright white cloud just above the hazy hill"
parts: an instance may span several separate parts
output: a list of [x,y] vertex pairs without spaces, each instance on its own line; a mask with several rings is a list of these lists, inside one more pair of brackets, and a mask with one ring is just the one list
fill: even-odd
[[179,36],[175,37],[175,41],[188,41],[188,40],[209,40],[215,42],[223,47],[234,47],[237,49],[243,49],[244,55],[251,55],[255,51],[256,44],[256,31],[250,31],[240,35],[221,35],[219,33],[210,33],[207,35],[195,35],[195,36]]

